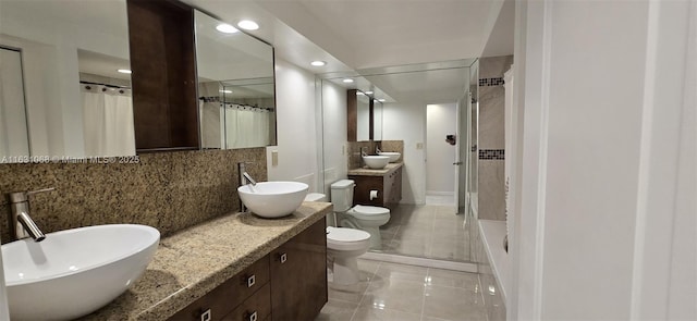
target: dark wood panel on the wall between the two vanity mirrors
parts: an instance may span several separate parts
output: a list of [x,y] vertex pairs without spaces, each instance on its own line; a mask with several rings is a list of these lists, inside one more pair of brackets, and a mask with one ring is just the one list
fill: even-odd
[[136,150],[198,149],[194,11],[127,0]]

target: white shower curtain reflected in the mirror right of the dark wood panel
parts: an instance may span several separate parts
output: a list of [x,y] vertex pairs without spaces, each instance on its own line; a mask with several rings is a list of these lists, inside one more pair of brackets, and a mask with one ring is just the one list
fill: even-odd
[[260,147],[271,143],[271,111],[236,103],[224,107],[225,148]]

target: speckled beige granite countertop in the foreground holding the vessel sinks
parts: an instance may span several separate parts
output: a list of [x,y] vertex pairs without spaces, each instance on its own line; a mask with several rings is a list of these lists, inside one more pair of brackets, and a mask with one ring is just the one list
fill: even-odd
[[78,320],[166,320],[331,211],[304,202],[292,215],[231,213],[162,238],[143,276],[108,306]]

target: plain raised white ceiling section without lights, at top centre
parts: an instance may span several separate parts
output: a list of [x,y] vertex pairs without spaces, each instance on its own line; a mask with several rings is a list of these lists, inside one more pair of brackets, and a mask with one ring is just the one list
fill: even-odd
[[[284,24],[353,69],[480,57],[503,2],[257,0]],[[501,23],[510,24],[512,35],[513,21]]]

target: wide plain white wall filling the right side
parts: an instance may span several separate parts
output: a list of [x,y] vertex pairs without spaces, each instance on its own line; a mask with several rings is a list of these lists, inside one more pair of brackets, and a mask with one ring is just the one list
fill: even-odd
[[696,7],[516,3],[510,320],[697,319]]

